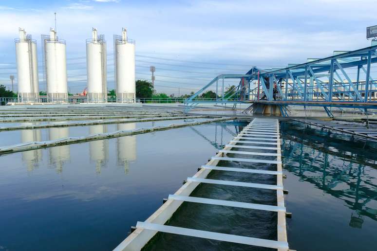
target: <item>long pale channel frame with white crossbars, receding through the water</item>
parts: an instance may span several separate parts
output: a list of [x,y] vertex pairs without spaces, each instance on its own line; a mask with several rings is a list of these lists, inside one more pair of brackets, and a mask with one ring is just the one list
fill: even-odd
[[[254,131],[261,131],[259,129],[261,127],[264,128],[264,133],[267,133],[268,131],[268,134],[261,135],[258,133],[254,133]],[[211,240],[226,241],[256,247],[272,248],[277,249],[279,251],[288,251],[289,247],[286,233],[286,210],[283,196],[283,171],[279,135],[279,121],[277,119],[254,119],[251,123],[245,126],[245,128],[234,138],[234,140],[230,141],[229,144],[226,144],[224,149],[220,150],[216,156],[212,157],[207,162],[207,164],[201,166],[200,170],[193,177],[187,178],[186,183],[174,195],[169,195],[168,200],[145,222],[137,222],[136,229],[114,250],[141,250],[157,232],[161,232],[185,235],[195,238],[206,238]],[[263,138],[261,138],[262,136]],[[239,148],[258,149],[259,151],[249,152],[236,150]],[[271,153],[271,151],[274,151],[274,153]],[[241,155],[244,157],[232,158],[227,157],[226,154],[237,154],[237,156]],[[258,156],[269,156],[274,160],[261,159],[258,158]],[[265,163],[266,165],[264,168],[265,170],[251,168],[235,168],[227,166],[218,166],[219,161]],[[266,170],[267,168],[271,168],[271,164],[276,166],[275,171]],[[247,173],[247,175],[250,176],[255,174],[274,175],[276,176],[276,185],[220,179],[207,179],[207,175],[212,170],[220,170],[225,172],[243,172]],[[240,201],[190,196],[190,194],[195,190],[195,188],[201,183],[209,183],[224,186],[224,189],[226,189],[226,187],[228,186],[232,186],[234,188],[251,187],[257,189],[269,189],[272,191],[275,190],[277,197],[277,205],[275,206],[255,204]],[[183,202],[221,205],[226,207],[277,212],[277,240],[254,238],[249,236],[233,235],[226,233],[216,233],[165,225],[170,219],[170,217],[174,214],[174,212],[182,205]],[[224,220],[224,222],[226,222],[226,220]]]

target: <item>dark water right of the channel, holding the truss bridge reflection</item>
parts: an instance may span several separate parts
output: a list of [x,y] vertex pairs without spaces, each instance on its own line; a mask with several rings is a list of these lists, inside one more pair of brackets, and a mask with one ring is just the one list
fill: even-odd
[[375,251],[377,143],[296,122],[281,131],[290,248]]

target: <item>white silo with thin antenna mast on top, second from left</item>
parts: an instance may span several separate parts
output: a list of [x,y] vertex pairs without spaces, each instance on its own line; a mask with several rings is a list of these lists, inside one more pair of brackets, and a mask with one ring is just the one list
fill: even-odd
[[44,77],[49,102],[67,102],[67,59],[65,40],[50,28],[50,36],[42,35]]

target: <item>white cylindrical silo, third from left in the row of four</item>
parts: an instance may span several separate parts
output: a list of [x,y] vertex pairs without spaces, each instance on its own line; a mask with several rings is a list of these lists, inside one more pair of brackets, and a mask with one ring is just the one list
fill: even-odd
[[94,28],[92,38],[86,40],[86,60],[88,102],[107,102],[106,41]]

